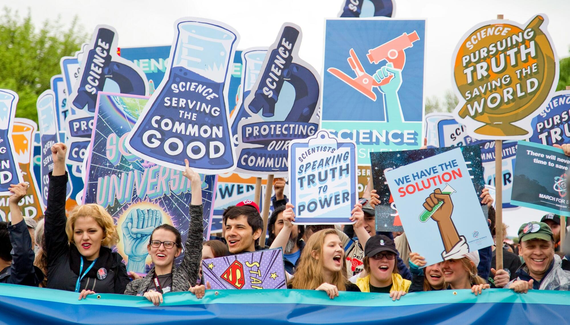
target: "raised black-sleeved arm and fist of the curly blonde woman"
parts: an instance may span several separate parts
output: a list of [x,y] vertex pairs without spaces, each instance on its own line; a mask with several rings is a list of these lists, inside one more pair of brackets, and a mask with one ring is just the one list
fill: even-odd
[[48,264],[63,253],[68,245],[66,234],[66,153],[67,146],[56,143],[51,147],[51,157],[54,170],[50,173],[50,183],[47,193],[47,207],[44,213],[44,238]]

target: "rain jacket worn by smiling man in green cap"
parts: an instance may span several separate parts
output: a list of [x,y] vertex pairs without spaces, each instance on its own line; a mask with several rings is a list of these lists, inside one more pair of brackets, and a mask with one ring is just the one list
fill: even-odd
[[[544,277],[540,281],[534,281],[532,284],[532,289],[536,290],[561,290],[561,291],[568,291],[570,290],[570,271],[562,269],[562,260],[560,256],[554,255],[554,259],[552,260],[552,264],[544,274]],[[520,266],[520,269],[516,271],[515,280],[508,282],[504,288],[510,288],[511,284],[517,280],[524,280],[530,281],[532,277],[528,273],[528,266],[527,264],[523,264]]]

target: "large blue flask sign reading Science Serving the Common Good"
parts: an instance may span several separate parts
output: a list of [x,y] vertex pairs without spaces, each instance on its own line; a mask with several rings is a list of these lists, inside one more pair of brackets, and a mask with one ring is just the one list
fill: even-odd
[[199,173],[235,168],[227,92],[238,32],[226,24],[178,19],[165,78],[127,138],[128,149],[152,163]]

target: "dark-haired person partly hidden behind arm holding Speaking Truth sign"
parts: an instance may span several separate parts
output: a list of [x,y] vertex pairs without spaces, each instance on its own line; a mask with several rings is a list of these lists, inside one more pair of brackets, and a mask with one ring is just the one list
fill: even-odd
[[[273,210],[273,213],[269,218],[269,222],[267,223],[269,238],[266,241],[266,246],[270,246],[275,240],[275,237],[283,229],[284,210],[285,206],[279,206],[275,208],[275,210]],[[304,226],[298,226],[294,224],[291,227],[291,234],[289,235],[287,245],[285,245],[285,247],[283,248],[283,263],[285,266],[285,270],[290,274],[295,273],[295,267],[299,262],[299,257],[301,256],[301,252],[303,251],[303,248],[305,246],[305,243],[302,240],[304,230],[305,230]]]

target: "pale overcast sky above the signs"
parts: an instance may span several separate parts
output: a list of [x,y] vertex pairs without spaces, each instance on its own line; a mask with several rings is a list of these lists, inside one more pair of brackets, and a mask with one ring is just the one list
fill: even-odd
[[[268,46],[284,22],[303,30],[299,56],[323,70],[323,27],[325,18],[336,17],[344,0],[0,0],[26,14],[35,23],[56,19],[68,24],[78,15],[84,30],[108,24],[119,32],[119,46],[170,44],[178,18],[195,16],[219,20],[238,30],[238,48]],[[87,4],[91,4],[88,6]],[[425,18],[426,96],[441,97],[451,89],[451,55],[459,39],[479,22],[504,18],[525,23],[533,15],[549,18],[548,31],[560,58],[569,56],[568,0],[396,0],[396,18]],[[566,22],[566,23],[564,23]]]

